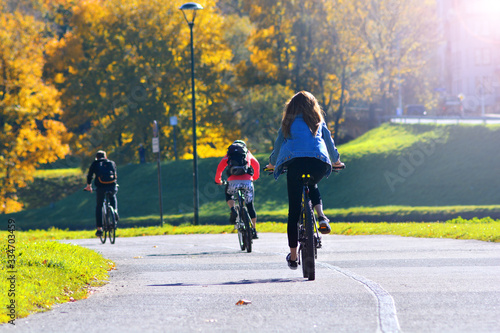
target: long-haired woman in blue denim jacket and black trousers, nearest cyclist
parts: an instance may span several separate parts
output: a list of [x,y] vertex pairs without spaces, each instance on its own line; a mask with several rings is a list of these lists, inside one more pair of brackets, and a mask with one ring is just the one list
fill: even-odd
[[297,269],[297,223],[300,218],[302,200],[301,175],[310,174],[313,184],[309,186],[309,196],[318,214],[319,231],[331,231],[329,220],[323,213],[323,204],[318,182],[328,177],[333,168],[343,168],[340,155],[335,148],[328,130],[323,111],[316,98],[307,91],[295,94],[285,105],[281,128],[269,157],[270,169],[274,168],[274,178],[278,179],[287,168],[288,190],[288,245],[290,253],[286,257],[288,267]]

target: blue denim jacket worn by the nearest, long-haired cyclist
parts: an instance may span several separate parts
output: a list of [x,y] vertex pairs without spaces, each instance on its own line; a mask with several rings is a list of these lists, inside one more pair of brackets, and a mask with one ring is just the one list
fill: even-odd
[[313,157],[330,165],[326,177],[332,172],[332,161],[337,162],[340,155],[333,142],[332,135],[323,122],[318,133],[313,136],[302,115],[297,115],[290,128],[290,138],[285,138],[281,128],[274,143],[274,150],[269,156],[269,163],[274,165],[274,178],[278,179],[283,168],[297,157]]

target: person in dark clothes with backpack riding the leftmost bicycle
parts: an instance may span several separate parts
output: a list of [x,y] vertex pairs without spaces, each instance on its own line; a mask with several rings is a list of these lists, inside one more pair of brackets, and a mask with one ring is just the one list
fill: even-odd
[[94,175],[97,204],[95,208],[95,221],[97,228],[95,235],[99,237],[102,235],[102,204],[107,191],[113,192],[113,195],[110,198],[110,205],[115,209],[116,221],[118,221],[118,201],[116,200],[118,185],[116,183],[116,164],[115,162],[107,159],[106,152],[103,150],[99,150],[96,153],[95,160],[89,167],[89,172],[87,173],[87,187],[85,187],[85,191],[92,192],[91,183]]

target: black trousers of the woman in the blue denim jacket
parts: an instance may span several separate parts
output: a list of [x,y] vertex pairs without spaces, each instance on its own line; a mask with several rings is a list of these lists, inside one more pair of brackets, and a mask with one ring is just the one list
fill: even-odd
[[318,189],[318,182],[325,176],[330,166],[316,158],[301,157],[295,158],[288,165],[286,175],[288,189],[288,246],[294,248],[298,245],[297,224],[300,219],[302,202],[302,175],[311,175],[312,181],[309,183],[309,197],[313,207],[321,204],[321,194]]

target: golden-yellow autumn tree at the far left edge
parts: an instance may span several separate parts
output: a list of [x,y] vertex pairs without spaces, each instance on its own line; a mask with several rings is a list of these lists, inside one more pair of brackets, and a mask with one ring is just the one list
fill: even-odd
[[68,152],[59,93],[42,80],[44,24],[0,4],[0,212],[22,208],[16,192],[36,167]]

